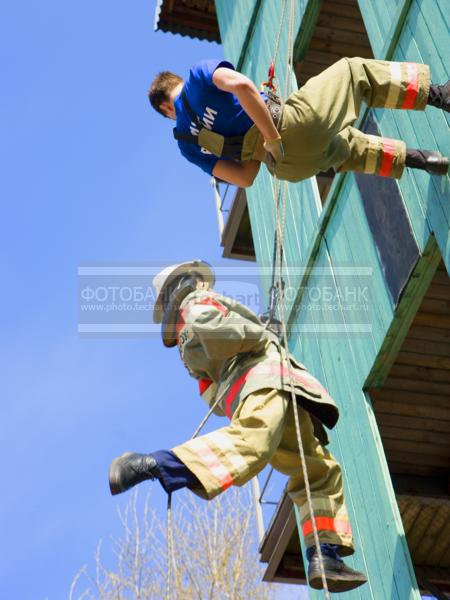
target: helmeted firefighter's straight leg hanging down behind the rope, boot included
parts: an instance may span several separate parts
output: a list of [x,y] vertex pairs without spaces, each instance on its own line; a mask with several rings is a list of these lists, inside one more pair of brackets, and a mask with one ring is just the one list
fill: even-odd
[[[314,436],[309,414],[300,408],[299,418],[312,507],[328,586],[333,592],[348,591],[365,583],[366,577],[347,567],[341,560],[341,556],[348,556],[354,552],[352,529],[345,507],[341,468],[336,459]],[[286,419],[280,446],[270,462],[278,471],[290,476],[288,493],[299,507],[301,528],[309,560],[308,581],[311,587],[321,589],[322,580],[314,542],[312,515],[306,499],[305,478],[301,469],[292,407]]]

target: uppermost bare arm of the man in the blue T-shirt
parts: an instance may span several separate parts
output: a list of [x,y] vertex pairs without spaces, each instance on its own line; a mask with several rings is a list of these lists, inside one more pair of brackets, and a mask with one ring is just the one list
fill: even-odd
[[279,137],[264,100],[248,77],[233,71],[233,69],[219,67],[214,71],[212,80],[219,90],[230,92],[236,96],[265,140]]

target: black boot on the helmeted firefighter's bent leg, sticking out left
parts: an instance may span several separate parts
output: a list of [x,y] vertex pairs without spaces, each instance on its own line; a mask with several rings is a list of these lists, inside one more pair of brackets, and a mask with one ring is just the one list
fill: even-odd
[[125,452],[115,458],[109,467],[109,489],[111,494],[121,494],[147,479],[157,479],[160,473],[151,454]]

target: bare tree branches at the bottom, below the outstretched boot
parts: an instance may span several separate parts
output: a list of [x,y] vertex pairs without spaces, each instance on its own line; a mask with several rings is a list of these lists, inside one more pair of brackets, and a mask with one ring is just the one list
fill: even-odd
[[[177,500],[172,514],[174,600],[273,599],[273,586],[261,581],[249,490],[234,488],[211,502],[190,493],[179,493]],[[69,600],[164,598],[164,519],[151,509],[149,496],[139,508],[136,492],[117,514],[122,535],[111,543],[115,564],[104,564],[99,543],[94,576],[82,567],[70,587]]]

